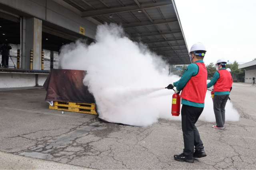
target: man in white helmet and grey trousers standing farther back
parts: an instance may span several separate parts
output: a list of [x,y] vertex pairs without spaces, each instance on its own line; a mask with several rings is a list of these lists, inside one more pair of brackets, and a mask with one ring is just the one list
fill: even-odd
[[225,106],[229,98],[232,86],[232,77],[230,72],[226,70],[226,59],[218,59],[216,62],[216,72],[212,80],[207,84],[207,88],[213,86],[213,109],[216,118],[215,129],[224,129],[225,124]]

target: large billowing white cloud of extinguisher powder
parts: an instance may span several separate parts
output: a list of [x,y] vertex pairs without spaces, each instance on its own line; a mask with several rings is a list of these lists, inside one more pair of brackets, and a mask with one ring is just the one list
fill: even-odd
[[[181,120],[171,115],[174,91],[164,89],[179,77],[168,76],[169,66],[146,45],[126,37],[122,27],[98,25],[96,43],[65,45],[60,58],[63,69],[87,70],[84,84],[94,95],[100,118],[130,125],[151,125],[159,118]],[[207,93],[200,119],[214,122],[211,100]],[[237,111],[227,107],[226,121],[238,121]]]

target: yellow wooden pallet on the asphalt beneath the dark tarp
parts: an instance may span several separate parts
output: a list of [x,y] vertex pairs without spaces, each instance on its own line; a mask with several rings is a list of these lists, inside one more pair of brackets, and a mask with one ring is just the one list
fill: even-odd
[[74,103],[74,102],[53,102],[53,106],[49,105],[49,109],[73,111],[73,112],[97,115],[95,111],[95,104]]

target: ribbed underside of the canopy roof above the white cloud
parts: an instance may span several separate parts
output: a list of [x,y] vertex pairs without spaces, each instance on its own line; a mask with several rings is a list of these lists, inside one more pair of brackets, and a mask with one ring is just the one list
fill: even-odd
[[[60,1],[60,0],[54,0]],[[122,24],[134,41],[152,51],[174,52],[170,64],[189,64],[188,47],[174,0],[62,0],[81,12],[81,17],[100,23]]]

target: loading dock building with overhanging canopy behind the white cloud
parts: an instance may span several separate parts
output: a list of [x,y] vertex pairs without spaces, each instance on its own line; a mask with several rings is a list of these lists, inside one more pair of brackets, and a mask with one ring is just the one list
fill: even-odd
[[42,85],[62,45],[95,41],[96,27],[104,23],[122,25],[132,41],[172,65],[190,63],[174,0],[0,0],[0,21],[0,44],[15,47],[13,58],[20,49],[20,67],[0,69],[0,88]]

